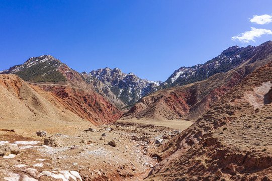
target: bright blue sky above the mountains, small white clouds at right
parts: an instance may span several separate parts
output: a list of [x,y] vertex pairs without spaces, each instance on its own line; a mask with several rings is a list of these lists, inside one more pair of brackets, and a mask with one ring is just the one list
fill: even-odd
[[[165,81],[180,66],[204,63],[230,46],[272,39],[272,1],[0,4],[1,70],[49,54],[79,72],[118,67]],[[262,15],[268,17],[253,19]]]

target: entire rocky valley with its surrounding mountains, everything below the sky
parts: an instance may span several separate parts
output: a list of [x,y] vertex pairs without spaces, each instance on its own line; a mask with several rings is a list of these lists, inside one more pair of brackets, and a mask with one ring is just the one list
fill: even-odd
[[0,98],[3,180],[272,180],[270,41],[165,82],[31,57]]

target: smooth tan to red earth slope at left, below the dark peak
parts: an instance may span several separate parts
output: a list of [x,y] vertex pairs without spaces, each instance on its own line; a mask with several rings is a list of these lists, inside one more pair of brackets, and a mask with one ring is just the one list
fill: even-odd
[[54,126],[57,120],[82,122],[82,119],[101,125],[114,122],[122,114],[109,101],[93,92],[68,86],[46,86],[45,89],[48,88],[50,92],[45,92],[17,75],[1,74],[0,116],[9,120],[37,121],[37,124]]

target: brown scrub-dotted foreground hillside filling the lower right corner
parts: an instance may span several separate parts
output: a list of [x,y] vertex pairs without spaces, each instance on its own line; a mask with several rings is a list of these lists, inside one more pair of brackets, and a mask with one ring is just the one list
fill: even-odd
[[272,179],[272,61],[246,76],[187,130],[163,144],[153,180]]

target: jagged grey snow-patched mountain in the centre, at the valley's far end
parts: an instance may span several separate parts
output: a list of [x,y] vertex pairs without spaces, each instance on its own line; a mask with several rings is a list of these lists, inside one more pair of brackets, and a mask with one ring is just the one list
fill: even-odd
[[105,83],[125,105],[136,103],[154,87],[163,84],[162,81],[141,79],[133,73],[122,73],[118,68],[111,69],[106,67],[89,73],[83,72],[81,75],[86,81],[98,79]]

